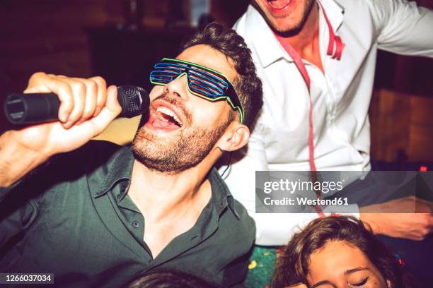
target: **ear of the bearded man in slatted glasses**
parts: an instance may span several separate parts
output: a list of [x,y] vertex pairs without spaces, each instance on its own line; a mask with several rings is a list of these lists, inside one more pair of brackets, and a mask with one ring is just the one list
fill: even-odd
[[234,151],[243,148],[250,139],[250,129],[237,121],[233,121],[219,139],[217,146],[223,151]]

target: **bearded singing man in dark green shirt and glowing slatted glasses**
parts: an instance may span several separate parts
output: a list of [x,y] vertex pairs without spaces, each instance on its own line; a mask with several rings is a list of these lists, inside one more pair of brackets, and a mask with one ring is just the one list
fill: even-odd
[[71,287],[120,287],[156,268],[243,280],[255,224],[213,166],[246,145],[262,106],[250,50],[212,24],[150,80],[149,116],[120,147],[89,142],[120,114],[115,87],[30,78],[25,92],[59,95],[59,121],[0,136],[0,272]]

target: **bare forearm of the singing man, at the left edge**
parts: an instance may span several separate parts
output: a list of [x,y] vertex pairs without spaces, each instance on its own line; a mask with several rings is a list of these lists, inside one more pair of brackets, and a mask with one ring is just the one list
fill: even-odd
[[11,186],[47,160],[44,153],[28,150],[13,140],[11,131],[0,136],[0,186]]

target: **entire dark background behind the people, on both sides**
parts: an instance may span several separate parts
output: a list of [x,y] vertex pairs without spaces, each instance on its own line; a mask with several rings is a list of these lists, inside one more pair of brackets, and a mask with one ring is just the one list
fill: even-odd
[[[135,0],[135,13],[131,2],[0,0],[1,103],[8,93],[24,90],[36,71],[100,75],[110,84],[147,88],[151,64],[175,56],[193,31],[189,1]],[[417,3],[433,8],[431,0]],[[248,0],[211,0],[211,16],[230,27],[247,6]],[[379,53],[370,109],[374,159],[433,162],[432,75],[432,59]]]

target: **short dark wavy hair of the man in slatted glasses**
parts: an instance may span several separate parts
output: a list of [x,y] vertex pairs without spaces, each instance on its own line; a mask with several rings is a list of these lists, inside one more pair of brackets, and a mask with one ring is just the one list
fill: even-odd
[[[252,128],[263,105],[262,81],[255,71],[251,51],[243,37],[233,29],[226,29],[218,23],[210,23],[196,32],[182,45],[185,50],[194,45],[204,44],[223,53],[233,61],[239,77],[233,81],[245,114],[245,124]],[[234,116],[232,116],[234,119]]]

